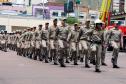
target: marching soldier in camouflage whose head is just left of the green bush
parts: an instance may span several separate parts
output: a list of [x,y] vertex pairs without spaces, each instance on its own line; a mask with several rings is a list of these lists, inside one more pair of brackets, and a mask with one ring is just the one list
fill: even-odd
[[58,38],[58,46],[59,46],[59,62],[61,67],[65,67],[64,59],[66,56],[66,60],[68,61],[68,43],[66,38],[69,34],[69,28],[65,24],[65,19],[61,21],[61,26],[56,29],[56,37]]

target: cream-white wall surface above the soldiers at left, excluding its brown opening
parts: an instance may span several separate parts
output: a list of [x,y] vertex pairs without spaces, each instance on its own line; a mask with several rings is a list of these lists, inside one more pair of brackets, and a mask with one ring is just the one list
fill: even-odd
[[17,17],[17,16],[1,16],[0,15],[0,25],[5,25],[8,32],[12,32],[12,26],[21,27],[33,27],[39,24],[45,24],[49,22],[52,25],[52,20],[41,20],[30,17]]

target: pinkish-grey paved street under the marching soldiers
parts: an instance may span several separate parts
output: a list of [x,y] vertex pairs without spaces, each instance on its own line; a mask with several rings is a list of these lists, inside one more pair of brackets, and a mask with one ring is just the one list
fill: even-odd
[[120,53],[120,69],[112,68],[110,58],[108,53],[108,66],[101,67],[102,73],[95,73],[93,65],[90,69],[81,63],[60,68],[17,56],[12,51],[0,51],[0,84],[126,84],[126,53]]

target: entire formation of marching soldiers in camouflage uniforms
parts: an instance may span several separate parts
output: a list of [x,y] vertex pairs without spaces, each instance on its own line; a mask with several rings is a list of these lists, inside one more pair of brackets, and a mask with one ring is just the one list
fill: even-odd
[[1,32],[0,49],[6,52],[9,48],[19,56],[53,62],[61,67],[70,62],[78,65],[80,60],[85,62],[86,68],[90,68],[90,62],[95,65],[96,72],[101,72],[100,66],[107,66],[105,53],[110,42],[114,48],[111,59],[113,68],[119,68],[117,59],[122,35],[118,24],[111,30],[103,31],[101,20],[93,23],[87,20],[85,24],[75,23],[73,26],[67,25],[65,19],[61,20],[61,25],[57,23],[58,20],[54,19],[51,26],[45,23],[44,26],[40,24],[23,31]]

